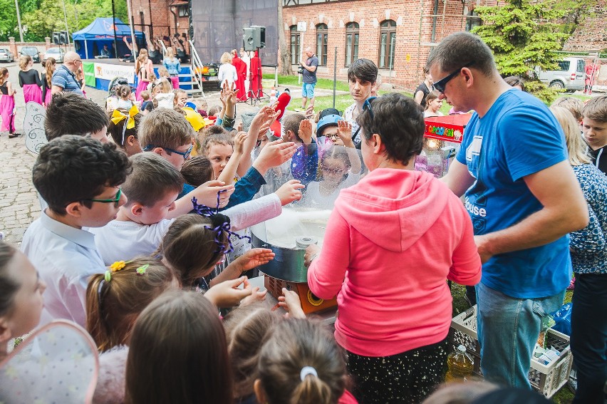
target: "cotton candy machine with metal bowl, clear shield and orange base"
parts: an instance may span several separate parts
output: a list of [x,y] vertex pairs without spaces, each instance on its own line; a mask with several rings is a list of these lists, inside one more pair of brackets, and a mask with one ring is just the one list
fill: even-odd
[[[266,187],[266,193],[274,192],[288,180],[302,180],[304,183],[307,182],[304,181],[305,177],[314,180],[307,183],[301,201],[283,207],[279,217],[252,226],[251,239],[253,247],[269,248],[276,254],[273,260],[259,266],[259,271],[265,275],[264,284],[269,293],[277,299],[282,295],[282,288],[296,291],[304,312],[313,313],[331,309],[337,305],[337,301],[319,299],[308,288],[308,269],[304,266],[306,247],[310,244],[323,247],[333,203],[343,188],[358,182],[360,170],[357,167],[362,160],[358,150],[322,145],[318,147],[318,152],[308,152],[308,158],[318,161],[316,164],[316,160],[313,160],[313,165],[308,166],[314,172],[308,170],[302,175],[296,170],[294,160],[266,175],[266,183],[272,185],[271,189]],[[346,164],[340,166],[340,161]],[[285,167],[289,168],[285,170]],[[339,171],[340,168],[344,169],[343,173]],[[323,170],[327,170],[326,175],[323,175]]]

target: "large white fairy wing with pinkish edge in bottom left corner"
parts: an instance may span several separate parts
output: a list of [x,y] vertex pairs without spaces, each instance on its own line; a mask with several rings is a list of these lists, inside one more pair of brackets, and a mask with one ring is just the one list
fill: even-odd
[[86,331],[53,321],[0,363],[0,403],[91,403],[98,371],[97,349]]

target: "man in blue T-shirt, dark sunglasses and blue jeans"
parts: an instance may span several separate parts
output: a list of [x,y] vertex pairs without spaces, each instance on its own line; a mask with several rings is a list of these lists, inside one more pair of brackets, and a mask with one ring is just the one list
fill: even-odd
[[530,388],[541,318],[561,306],[571,279],[568,233],[586,227],[588,207],[554,115],[499,76],[480,38],[448,36],[426,66],[440,98],[476,111],[444,181],[465,194],[483,262],[481,370],[494,383]]

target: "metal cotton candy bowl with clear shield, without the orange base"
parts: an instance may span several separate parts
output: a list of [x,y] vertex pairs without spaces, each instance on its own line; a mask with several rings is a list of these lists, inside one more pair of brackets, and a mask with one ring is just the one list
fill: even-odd
[[[310,244],[322,247],[326,224],[339,192],[360,180],[360,172],[352,172],[350,161],[359,159],[362,170],[365,170],[358,150],[323,145],[323,138],[319,143],[316,175],[311,173],[316,180],[308,183],[301,201],[284,206],[279,217],[251,227],[253,247],[269,248],[276,254],[273,260],[259,266],[259,271],[276,279],[298,283],[308,281],[308,269],[304,266],[306,247]],[[308,155],[312,152],[308,150]],[[267,185],[262,187],[260,194],[274,192],[293,179],[301,179],[301,175],[291,160],[269,170],[265,177]]]

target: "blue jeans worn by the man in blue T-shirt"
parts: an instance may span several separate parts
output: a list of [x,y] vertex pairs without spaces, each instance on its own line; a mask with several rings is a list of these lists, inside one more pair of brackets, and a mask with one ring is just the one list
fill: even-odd
[[485,380],[531,388],[527,374],[541,318],[563,304],[565,291],[538,299],[517,299],[479,283],[477,331]]

